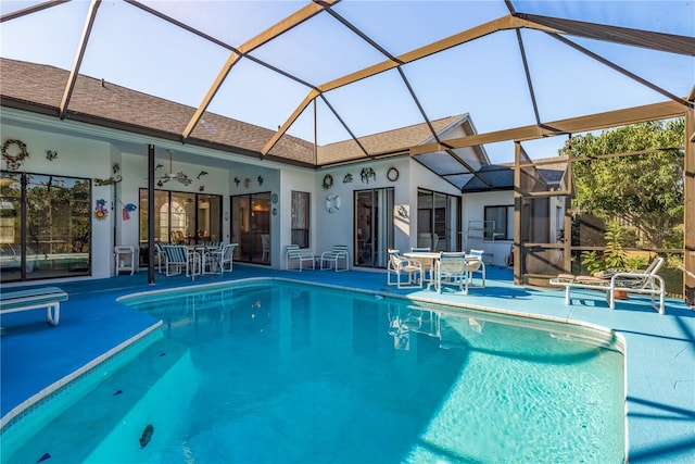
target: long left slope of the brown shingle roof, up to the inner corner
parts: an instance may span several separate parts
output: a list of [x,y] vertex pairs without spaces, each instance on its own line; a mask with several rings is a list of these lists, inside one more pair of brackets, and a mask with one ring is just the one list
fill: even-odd
[[[10,98],[45,106],[46,113],[58,115],[68,77],[65,70],[3,58],[0,61],[2,105],[10,104]],[[180,139],[194,112],[191,106],[79,75],[65,118],[105,126],[121,123],[136,133],[162,133],[160,135]],[[191,137],[193,142],[200,140],[243,152],[260,152],[273,135],[273,130],[263,127],[205,113]],[[314,158],[311,142],[291,136],[282,137],[275,151],[293,161],[312,163]]]

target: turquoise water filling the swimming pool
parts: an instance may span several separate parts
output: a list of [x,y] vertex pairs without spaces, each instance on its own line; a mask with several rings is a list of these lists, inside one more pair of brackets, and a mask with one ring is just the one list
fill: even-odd
[[278,281],[124,302],[161,333],[10,427],[3,463],[624,462],[599,330]]

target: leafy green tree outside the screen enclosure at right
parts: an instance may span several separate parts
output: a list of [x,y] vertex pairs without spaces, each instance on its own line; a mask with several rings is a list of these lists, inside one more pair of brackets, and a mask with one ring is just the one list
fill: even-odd
[[[573,158],[574,205],[621,221],[655,248],[681,248],[683,236],[683,118],[650,122],[573,137],[559,150]],[[659,149],[656,153],[597,159]]]

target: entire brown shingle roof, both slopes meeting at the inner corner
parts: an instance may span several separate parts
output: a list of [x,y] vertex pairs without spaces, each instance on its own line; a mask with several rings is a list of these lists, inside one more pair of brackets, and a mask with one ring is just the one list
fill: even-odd
[[[0,59],[1,103],[30,108],[58,116],[70,73],[54,66]],[[38,106],[38,108],[37,108]],[[65,118],[92,124],[127,128],[140,134],[154,134],[169,139],[180,135],[195,112],[194,108],[138,92],[125,87],[79,75],[70,100]],[[443,130],[458,116],[432,121],[432,127]],[[187,143],[227,148],[245,154],[260,155],[275,133],[270,129],[206,112]],[[416,124],[359,138],[368,155],[392,153],[421,143],[432,137],[427,124]],[[354,140],[317,147],[296,137],[285,135],[270,154],[286,161],[309,165],[342,161],[362,161],[366,156]]]

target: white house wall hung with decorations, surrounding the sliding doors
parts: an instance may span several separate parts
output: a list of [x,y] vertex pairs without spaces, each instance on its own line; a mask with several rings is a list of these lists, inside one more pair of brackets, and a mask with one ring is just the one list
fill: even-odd
[[[172,180],[161,190],[199,192],[201,186],[204,186],[204,193],[222,197],[222,233],[225,241],[230,240],[231,196],[265,191],[277,193],[278,202],[271,204],[271,209],[277,209],[277,214],[270,216],[270,252],[274,268],[285,268],[285,249],[291,241],[292,191],[311,195],[312,251],[318,256],[333,244],[348,244],[351,261],[354,256],[353,201],[356,190],[387,187],[394,189],[394,211],[391,212],[395,214],[394,247],[401,250],[417,246],[415,231],[418,188],[452,196],[460,195],[456,187],[443,181],[437,174],[407,155],[367,160],[364,163],[316,171],[200,147],[180,146],[167,140],[144,139],[136,134],[59,121],[49,116],[14,110],[11,113],[12,117],[5,117],[8,113],[4,113],[1,122],[3,140],[23,140],[30,153],[20,171],[90,178],[92,210],[98,199],[106,201],[109,216],[103,221],[93,217],[91,221],[93,278],[104,278],[114,274],[114,244],[139,244],[139,191],[148,186],[148,143],[156,147],[156,163],[163,164],[163,167],[157,170],[157,175],[168,172],[168,156],[163,152],[172,147],[175,152],[173,171],[182,171],[193,180],[189,186]],[[17,124],[13,124],[14,122]],[[46,150],[58,151],[59,158],[48,161],[45,156]],[[187,156],[191,154],[190,160],[201,161],[177,161],[177,152],[186,153]],[[224,162],[220,162],[220,159]],[[110,178],[114,175],[114,165],[119,167],[117,174],[122,180],[114,185],[97,186],[94,178]],[[4,167],[7,166],[3,164]],[[361,172],[365,167],[372,168],[376,178],[363,180]],[[397,170],[397,179],[387,177],[391,168]],[[205,171],[207,175],[198,178],[201,171]],[[323,184],[327,174],[332,176],[333,185],[325,189]],[[346,174],[352,175],[352,181],[343,181]],[[263,177],[262,184],[258,176]],[[240,184],[235,181],[237,178],[241,180]],[[244,185],[247,178],[251,180],[249,186]],[[333,213],[326,208],[326,197],[329,195],[338,195],[340,198],[340,208]],[[138,210],[130,212],[129,218],[124,218],[123,206],[128,203],[137,205]],[[466,217],[464,208],[464,220]],[[465,231],[465,221],[463,227]]]

